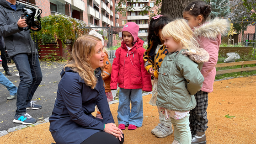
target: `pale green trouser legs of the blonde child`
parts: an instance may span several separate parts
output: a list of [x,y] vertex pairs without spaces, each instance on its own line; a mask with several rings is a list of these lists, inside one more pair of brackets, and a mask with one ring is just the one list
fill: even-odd
[[174,127],[174,139],[180,144],[191,144],[191,132],[189,128],[189,114],[181,119],[171,117],[171,123]]

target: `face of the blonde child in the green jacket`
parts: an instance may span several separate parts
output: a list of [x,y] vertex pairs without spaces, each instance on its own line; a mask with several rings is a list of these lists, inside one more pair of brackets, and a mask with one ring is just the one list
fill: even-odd
[[167,48],[169,53],[173,53],[176,51],[180,51],[182,49],[181,44],[177,43],[173,37],[164,37],[165,40],[165,48]]

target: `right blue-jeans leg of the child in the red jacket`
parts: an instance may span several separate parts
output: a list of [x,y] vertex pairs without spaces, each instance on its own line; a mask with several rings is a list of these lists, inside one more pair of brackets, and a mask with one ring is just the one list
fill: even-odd
[[142,89],[132,89],[130,97],[132,110],[129,116],[129,124],[141,127],[143,122]]

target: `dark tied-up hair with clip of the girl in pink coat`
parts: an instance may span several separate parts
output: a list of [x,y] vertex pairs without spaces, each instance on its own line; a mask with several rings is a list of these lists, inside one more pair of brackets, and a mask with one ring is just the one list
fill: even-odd
[[[193,6],[193,9],[190,10],[192,8],[192,6]],[[188,4],[183,12],[185,12],[185,11],[186,12],[188,11],[191,16],[195,16],[195,17],[202,14],[203,18],[204,18],[203,21],[206,21],[210,15],[210,13],[212,12],[212,8],[211,8],[211,5],[207,5],[204,1],[196,0],[196,1],[192,1],[190,4]]]

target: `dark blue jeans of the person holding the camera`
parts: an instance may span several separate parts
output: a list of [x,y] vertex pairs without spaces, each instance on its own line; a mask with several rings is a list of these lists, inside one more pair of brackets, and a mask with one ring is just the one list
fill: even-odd
[[[36,62],[34,65],[34,60]],[[17,110],[16,115],[26,113],[26,104],[32,100],[32,97],[41,83],[43,75],[38,60],[38,56],[32,58],[32,55],[25,53],[17,54],[13,57],[16,68],[20,75],[20,84],[17,95]]]

